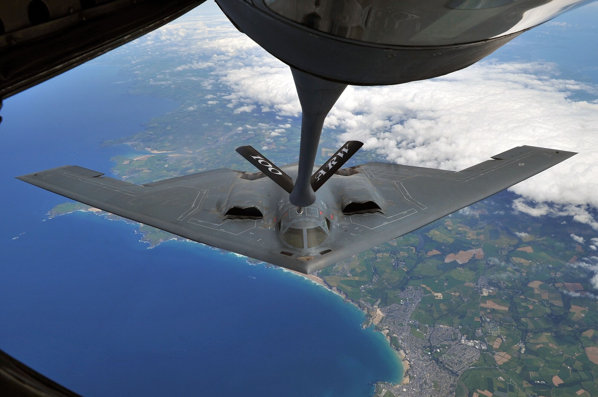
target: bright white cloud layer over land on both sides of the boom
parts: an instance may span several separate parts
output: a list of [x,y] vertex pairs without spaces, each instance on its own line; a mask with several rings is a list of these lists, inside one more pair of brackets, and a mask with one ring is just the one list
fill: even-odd
[[[172,72],[208,69],[233,91],[233,112],[297,116],[288,66],[224,18],[186,17],[146,36],[142,45],[185,55]],[[207,81],[206,84],[210,82]],[[382,160],[459,170],[519,145],[579,152],[511,188],[514,209],[570,215],[598,230],[598,88],[559,77],[556,65],[484,61],[444,77],[384,87],[348,87],[325,127],[338,141],[359,139]]]

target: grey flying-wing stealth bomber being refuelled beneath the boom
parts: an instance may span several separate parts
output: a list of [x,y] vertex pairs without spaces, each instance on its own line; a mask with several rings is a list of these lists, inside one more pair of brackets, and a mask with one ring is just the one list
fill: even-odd
[[[347,142],[341,151],[352,146],[359,143]],[[317,190],[316,200],[300,208],[289,201],[285,188],[266,177],[272,172],[291,181],[298,166],[278,168],[255,151],[251,155],[266,172],[217,169],[134,185],[64,166],[19,179],[178,236],[313,273],[498,193],[573,154],[520,146],[459,172],[367,163],[322,176],[330,178]],[[338,157],[324,167],[338,164]],[[316,177],[312,180],[318,183]],[[292,182],[288,186],[292,188]]]

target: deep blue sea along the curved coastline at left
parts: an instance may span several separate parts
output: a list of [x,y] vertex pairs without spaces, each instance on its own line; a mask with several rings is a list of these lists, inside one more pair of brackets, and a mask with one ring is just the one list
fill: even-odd
[[[147,249],[65,198],[14,179],[64,164],[108,172],[178,105],[130,96],[118,66],[83,65],[0,114],[0,349],[83,396],[368,396],[402,367],[364,313],[303,277],[196,243]],[[15,238],[17,237],[17,238]]]

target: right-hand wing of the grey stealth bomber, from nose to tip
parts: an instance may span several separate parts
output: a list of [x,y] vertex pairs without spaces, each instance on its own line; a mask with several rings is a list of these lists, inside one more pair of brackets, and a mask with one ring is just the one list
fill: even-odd
[[[486,197],[492,196],[530,176],[575,155],[535,146],[519,146],[459,172],[371,162],[352,167],[353,179],[335,175],[328,181],[341,205],[373,200],[380,212],[343,215],[338,227],[343,230],[325,260],[314,259],[307,270],[320,270],[347,256],[417,230]],[[343,170],[341,170],[343,171]],[[345,170],[347,172],[347,169]],[[347,172],[348,173],[348,172]],[[373,194],[361,184],[371,185]]]

